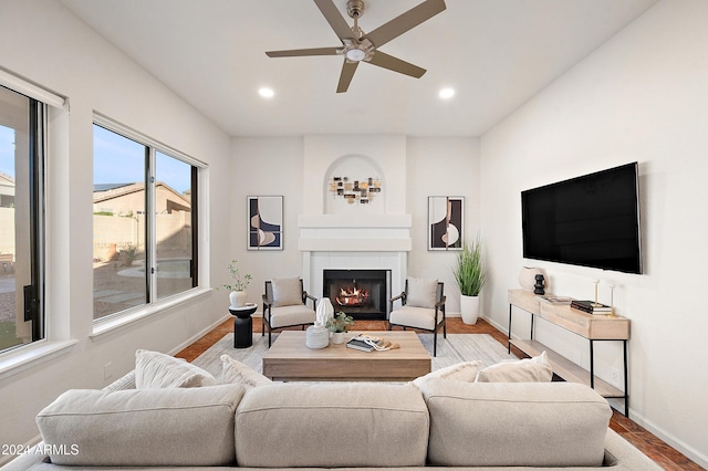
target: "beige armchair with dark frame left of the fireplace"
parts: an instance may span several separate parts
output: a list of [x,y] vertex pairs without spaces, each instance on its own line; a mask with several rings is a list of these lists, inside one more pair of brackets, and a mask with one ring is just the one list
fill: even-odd
[[[312,301],[312,308],[308,307],[308,300]],[[271,344],[271,332],[274,328],[292,327],[314,324],[316,299],[309,295],[302,286],[302,280],[273,279],[266,282],[263,294],[263,323],[261,335],[266,335],[268,325],[268,346]]]

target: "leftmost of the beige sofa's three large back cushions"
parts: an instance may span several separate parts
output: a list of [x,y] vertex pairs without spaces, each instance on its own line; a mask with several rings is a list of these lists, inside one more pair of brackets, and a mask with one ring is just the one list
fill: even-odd
[[[85,467],[223,465],[235,461],[239,385],[204,388],[73,389],[37,416],[55,464]],[[76,450],[76,453],[62,453]],[[73,447],[73,448],[72,448]]]

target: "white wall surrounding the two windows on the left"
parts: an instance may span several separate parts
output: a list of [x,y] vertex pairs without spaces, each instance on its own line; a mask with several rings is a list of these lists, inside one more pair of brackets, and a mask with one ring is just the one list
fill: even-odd
[[[206,291],[110,334],[88,337],[94,111],[209,165],[201,197],[210,205],[214,228],[200,228],[202,283],[211,276],[210,257],[220,268],[231,243],[222,230],[230,211],[223,198],[231,187],[230,139],[58,2],[3,1],[1,10],[0,65],[66,96],[70,104],[51,116],[46,315],[50,341],[77,342],[54,359],[0,375],[0,443],[25,443],[38,435],[37,412],[62,391],[103,387],[132,369],[135,349],[174,353],[228,316],[226,293]],[[6,359],[7,355],[0,358],[0,370]],[[104,379],[107,363],[113,377]]]

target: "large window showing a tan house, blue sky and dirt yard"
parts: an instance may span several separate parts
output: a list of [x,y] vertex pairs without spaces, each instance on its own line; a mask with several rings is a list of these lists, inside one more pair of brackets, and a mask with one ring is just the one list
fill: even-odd
[[94,124],[94,320],[197,285],[198,168],[178,153]]

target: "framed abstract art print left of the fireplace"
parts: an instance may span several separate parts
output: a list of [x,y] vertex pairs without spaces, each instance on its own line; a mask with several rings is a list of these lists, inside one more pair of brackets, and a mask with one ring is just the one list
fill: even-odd
[[248,197],[248,250],[283,250],[283,197]]

